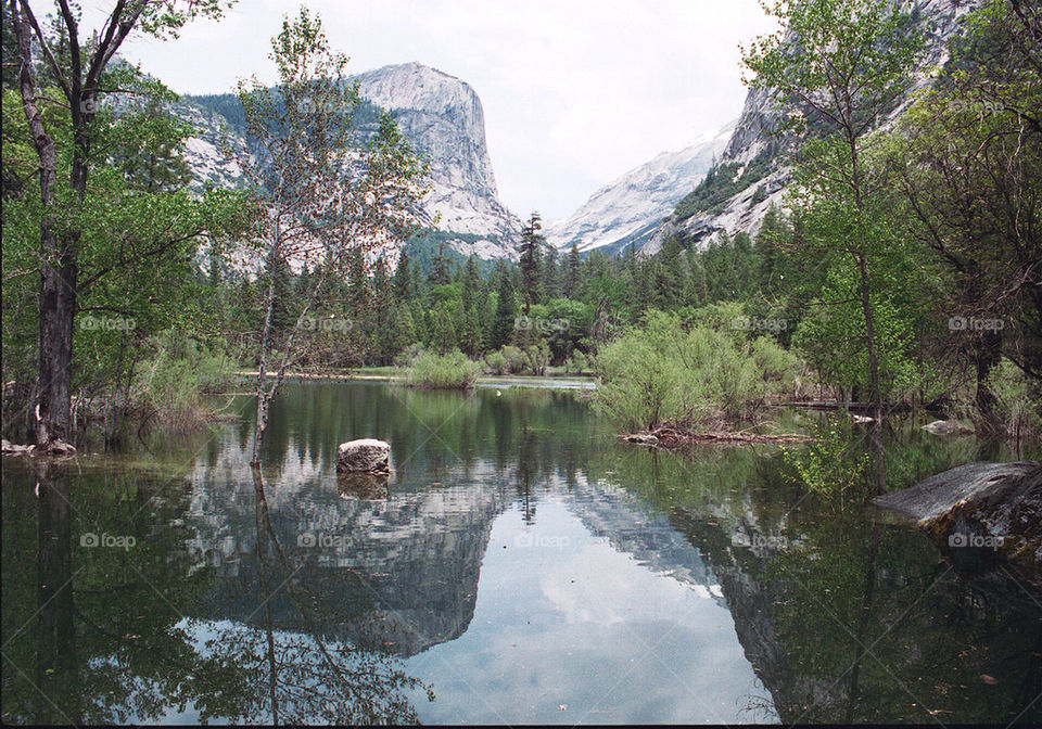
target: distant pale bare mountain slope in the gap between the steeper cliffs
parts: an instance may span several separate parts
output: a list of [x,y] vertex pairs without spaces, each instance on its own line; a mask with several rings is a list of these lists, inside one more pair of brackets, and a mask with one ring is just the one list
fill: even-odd
[[571,217],[548,223],[547,242],[559,248],[575,243],[582,253],[594,248],[617,253],[630,244],[640,245],[702,180],[734,128],[735,123],[728,124],[713,137],[663,152],[606,184]]

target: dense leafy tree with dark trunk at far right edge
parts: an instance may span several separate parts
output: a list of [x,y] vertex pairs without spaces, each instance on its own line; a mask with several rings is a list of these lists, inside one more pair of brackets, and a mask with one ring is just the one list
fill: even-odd
[[[946,282],[928,302],[943,351],[971,362],[974,402],[986,427],[1003,356],[1042,379],[1042,82],[1038,11],[1016,2],[974,13],[946,74],[902,118],[888,158],[914,239]],[[1032,20],[1033,18],[1033,20]],[[1001,327],[999,325],[1001,322]]]

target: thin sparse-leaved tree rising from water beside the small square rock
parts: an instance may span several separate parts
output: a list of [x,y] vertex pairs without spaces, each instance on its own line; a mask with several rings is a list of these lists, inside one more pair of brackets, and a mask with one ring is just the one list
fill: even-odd
[[[268,284],[257,349],[254,464],[260,460],[271,397],[294,356],[294,335],[325,278],[343,276],[352,256],[357,274],[358,260],[364,261],[383,238],[404,238],[415,225],[414,209],[425,192],[419,184],[425,168],[390,114],[381,115],[378,130],[359,156],[353,119],[360,104],[358,85],[346,79],[347,57],[331,50],[320,18],[306,9],[294,20],[283,18],[271,49],[278,87],[270,89],[256,78],[239,87],[253,154],[238,162],[265,208],[258,242],[267,255],[298,258],[305,266],[323,265],[296,322],[280,343],[277,363],[269,361],[276,292]],[[357,304],[357,278],[354,283]],[[268,384],[271,364],[275,376]]]

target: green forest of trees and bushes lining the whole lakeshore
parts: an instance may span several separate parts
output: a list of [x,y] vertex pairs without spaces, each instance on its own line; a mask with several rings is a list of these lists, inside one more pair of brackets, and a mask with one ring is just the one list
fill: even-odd
[[[203,394],[262,360],[342,371],[456,351],[491,373],[598,374],[606,392],[634,396],[637,424],[677,415],[649,419],[666,400],[634,395],[648,386],[638,375],[656,371],[659,382],[692,388],[720,380],[710,388],[717,394],[706,395],[723,398],[713,417],[806,396],[860,400],[879,413],[930,407],[1001,434],[1040,431],[1038,2],[986,3],[963,18],[945,66],[914,93],[924,41],[900,8],[816,0],[779,10],[821,52],[787,53],[779,38],[745,51],[751,82],[783,111],[778,133],[802,140],[780,161],[788,191],[754,235],[720,231],[708,245],[681,235],[653,255],[580,255],[547,246],[533,214],[517,261],[461,259],[447,236],[428,233],[401,255],[327,245],[304,266],[292,246],[243,245],[267,240],[257,209],[274,194],[258,192],[270,168],[258,168],[254,188],[193,189],[181,157],[192,129],[169,111],[169,90],[111,59],[88,77],[89,64],[71,62],[66,24],[37,23],[37,31],[3,8],[5,434],[39,438],[35,406],[46,400],[45,414],[59,412],[62,397],[52,434],[96,419],[113,437],[141,421],[192,422],[205,413]],[[153,10],[152,30],[191,20]],[[79,48],[88,60],[97,52]],[[834,76],[815,65],[823,63],[846,71]],[[75,74],[93,87],[77,87]],[[301,94],[315,93],[314,79],[301,84]],[[134,90],[135,101],[111,88]],[[263,136],[264,115],[284,110],[251,93],[259,91],[240,90],[241,124],[249,129],[255,115]],[[326,93],[361,104],[335,85]],[[340,122],[314,113],[295,122],[327,125],[331,145],[343,137]],[[422,159],[393,122],[377,126],[383,148],[371,154],[401,179],[419,179]],[[40,129],[53,141],[45,163]],[[685,199],[684,214],[716,201],[723,193],[713,186],[750,174],[715,170]],[[75,294],[68,300],[65,290]],[[699,354],[708,351],[715,354]],[[684,372],[669,374],[675,367]],[[733,382],[748,386],[728,393]],[[686,408],[679,415],[699,411],[674,405]]]

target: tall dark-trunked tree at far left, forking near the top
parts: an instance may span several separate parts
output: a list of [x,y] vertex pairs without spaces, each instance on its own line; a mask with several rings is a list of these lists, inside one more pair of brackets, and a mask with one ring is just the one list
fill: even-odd
[[[89,42],[81,36],[78,11],[68,0],[58,0],[59,36],[45,31],[33,4],[29,0],[10,0],[4,30],[13,30],[20,61],[21,107],[39,159],[35,190],[39,208],[34,215],[40,246],[36,439],[39,445],[47,445],[66,438],[69,433],[73,320],[82,285],[80,257],[89,254],[92,246],[85,228],[94,219],[88,202],[88,183],[91,175],[109,163],[105,155],[93,149],[99,130],[99,102],[105,89],[125,88],[126,82],[162,94],[156,84],[142,82],[127,69],[113,71],[112,60],[132,31],[157,38],[176,35],[194,17],[219,17],[228,3],[223,0],[117,2]],[[11,46],[10,36],[7,41]],[[34,57],[34,44],[42,57],[42,68]],[[50,115],[46,107],[51,103],[66,110],[68,115]],[[62,150],[68,153],[67,157],[60,155]],[[132,194],[124,201],[128,208],[138,207],[139,219],[145,223],[157,221],[154,210],[144,213],[148,194]],[[183,208],[191,202],[181,200],[178,204]],[[198,213],[202,204],[196,203],[192,209]],[[150,230],[144,231],[135,226],[114,229],[136,231],[138,235],[132,235],[130,245],[122,246],[124,253],[118,261],[96,271],[94,276],[107,277],[113,271],[125,274],[124,269],[131,261],[174,255],[196,241],[205,230],[198,227],[199,222],[198,217],[190,221],[175,218],[173,226],[147,226]]]

